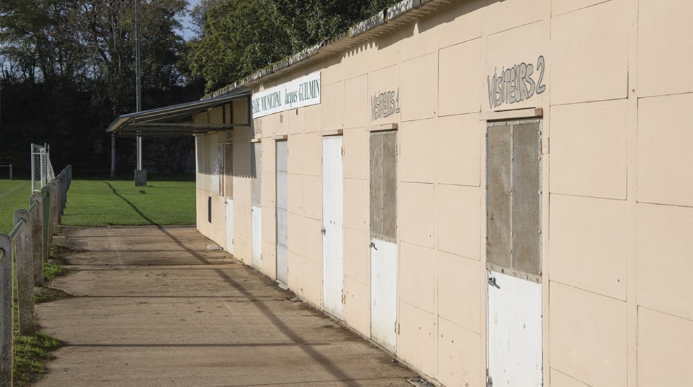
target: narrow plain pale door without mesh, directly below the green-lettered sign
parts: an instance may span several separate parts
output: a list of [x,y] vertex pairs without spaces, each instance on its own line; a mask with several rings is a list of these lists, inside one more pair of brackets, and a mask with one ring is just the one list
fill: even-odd
[[288,147],[276,142],[276,279],[288,282]]

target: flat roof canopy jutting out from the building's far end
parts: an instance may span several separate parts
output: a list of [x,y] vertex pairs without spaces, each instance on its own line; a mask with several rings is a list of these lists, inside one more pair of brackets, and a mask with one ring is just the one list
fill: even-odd
[[[201,101],[120,115],[111,122],[106,133],[115,133],[118,136],[175,137],[226,131],[234,126],[250,126],[248,123],[206,124],[193,122],[193,115],[197,113],[226,105],[250,95],[250,91],[237,91]],[[249,106],[248,104],[248,112],[250,111]],[[249,118],[250,115],[248,115],[248,122],[250,122]]]

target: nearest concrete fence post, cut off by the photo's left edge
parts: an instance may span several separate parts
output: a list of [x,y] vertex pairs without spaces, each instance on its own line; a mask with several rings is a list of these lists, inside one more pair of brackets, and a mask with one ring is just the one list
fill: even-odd
[[12,240],[0,234],[0,386],[12,386]]

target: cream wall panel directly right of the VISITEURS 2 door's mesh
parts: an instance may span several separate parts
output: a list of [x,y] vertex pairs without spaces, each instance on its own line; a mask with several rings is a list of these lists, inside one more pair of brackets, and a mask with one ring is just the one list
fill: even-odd
[[626,198],[628,101],[551,108],[551,192]]

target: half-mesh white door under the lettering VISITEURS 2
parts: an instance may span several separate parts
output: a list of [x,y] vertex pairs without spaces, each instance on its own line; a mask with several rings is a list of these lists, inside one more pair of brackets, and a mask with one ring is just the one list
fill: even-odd
[[540,119],[486,126],[487,386],[542,386]]

